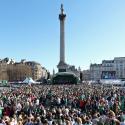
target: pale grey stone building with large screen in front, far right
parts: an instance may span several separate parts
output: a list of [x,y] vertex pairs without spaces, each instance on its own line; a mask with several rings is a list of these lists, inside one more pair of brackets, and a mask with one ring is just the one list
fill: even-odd
[[90,65],[91,80],[125,79],[125,57],[103,60],[101,64]]

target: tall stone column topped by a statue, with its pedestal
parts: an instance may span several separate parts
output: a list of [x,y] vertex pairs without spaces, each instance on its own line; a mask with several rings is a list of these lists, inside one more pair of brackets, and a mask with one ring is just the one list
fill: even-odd
[[65,18],[63,4],[61,4],[61,13],[59,14],[60,20],[60,61],[57,65],[59,72],[66,72],[68,65],[65,63]]

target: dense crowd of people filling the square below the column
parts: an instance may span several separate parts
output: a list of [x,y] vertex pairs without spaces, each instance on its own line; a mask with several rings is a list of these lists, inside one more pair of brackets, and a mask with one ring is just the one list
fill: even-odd
[[0,125],[125,125],[125,90],[23,85],[0,90]]

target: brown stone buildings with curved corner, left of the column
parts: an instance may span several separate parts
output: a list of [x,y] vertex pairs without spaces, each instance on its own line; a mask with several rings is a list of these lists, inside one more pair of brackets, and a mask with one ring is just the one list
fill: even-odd
[[26,77],[32,77],[33,80],[47,78],[48,71],[35,61],[15,62],[12,59],[5,58],[0,60],[0,80],[23,81]]

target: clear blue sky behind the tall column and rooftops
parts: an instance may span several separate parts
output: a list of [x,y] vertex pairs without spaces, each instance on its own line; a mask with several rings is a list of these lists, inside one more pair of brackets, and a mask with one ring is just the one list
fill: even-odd
[[68,64],[88,69],[90,63],[125,56],[125,0],[0,0],[0,58],[56,69],[61,3]]

